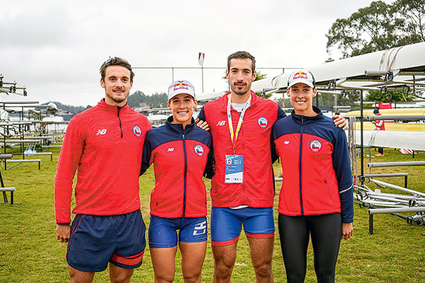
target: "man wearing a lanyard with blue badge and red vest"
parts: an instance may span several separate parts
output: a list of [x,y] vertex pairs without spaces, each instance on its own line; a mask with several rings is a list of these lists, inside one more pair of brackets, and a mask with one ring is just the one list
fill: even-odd
[[274,183],[271,127],[285,113],[278,104],[256,96],[255,59],[248,52],[227,58],[231,91],[204,105],[214,144],[215,175],[211,182],[211,243],[214,282],[230,282],[237,239],[244,226],[251,247],[256,282],[272,282]]

